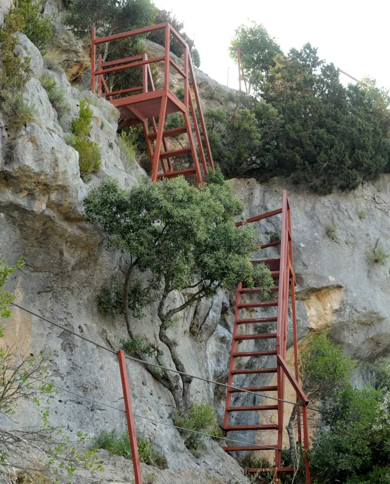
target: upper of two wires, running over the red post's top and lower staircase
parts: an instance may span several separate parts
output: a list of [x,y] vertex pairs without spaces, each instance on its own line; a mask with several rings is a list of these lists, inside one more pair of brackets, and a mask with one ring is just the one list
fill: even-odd
[[[47,323],[53,324],[54,326],[57,326],[58,328],[60,328],[60,329],[62,329],[64,331],[67,331],[67,332],[73,334],[74,336],[77,336],[78,338],[81,338],[82,340],[87,341],[88,343],[95,344],[95,346],[98,346],[99,348],[102,348],[102,349],[104,349],[106,351],[109,351],[110,353],[113,353],[114,355],[117,355],[117,352],[116,351],[111,350],[111,349],[107,348],[106,346],[103,346],[102,344],[96,343],[95,341],[92,341],[92,340],[86,338],[85,336],[82,336],[82,335],[80,335],[78,333],[75,333],[75,331],[72,331],[71,329],[65,328],[64,326],[61,326],[58,323],[54,323],[54,321],[50,321],[49,319],[44,318],[43,316],[40,316],[39,314],[37,314],[37,313],[35,313],[33,311],[30,311],[29,309],[26,309],[25,307],[22,307],[19,304],[16,304],[15,302],[11,302],[11,304],[14,305],[14,306],[16,306],[16,307],[19,307],[20,309],[22,309],[23,311],[26,311],[27,313],[32,314],[33,316],[37,316],[37,318],[40,318],[43,321],[46,321]],[[299,407],[300,406],[303,406],[301,403],[291,402],[290,400],[283,400],[283,399],[277,398],[277,397],[271,397],[269,395],[265,395],[264,393],[253,392],[253,391],[250,391],[250,390],[244,390],[243,388],[240,388],[239,386],[228,385],[227,383],[215,382],[214,380],[210,380],[208,378],[199,377],[199,376],[196,376],[196,375],[191,375],[190,373],[185,373],[184,371],[174,370],[173,368],[167,368],[166,366],[161,366],[161,365],[156,364],[156,363],[145,362],[143,360],[140,360],[139,358],[134,358],[132,356],[125,355],[125,358],[127,360],[131,360],[131,361],[135,361],[135,362],[138,362],[138,363],[142,363],[142,364],[147,364],[147,365],[150,365],[150,366],[154,366],[154,367],[160,368],[162,370],[167,370],[167,371],[171,371],[173,373],[178,373],[179,375],[189,376],[191,378],[195,378],[196,380],[201,380],[203,382],[213,383],[215,385],[220,385],[220,386],[223,386],[225,388],[232,388],[234,390],[240,390],[240,392],[242,392],[242,393],[249,393],[250,395],[255,395],[256,397],[263,397],[263,398],[268,398],[270,400],[276,400],[278,402],[290,403],[291,405],[295,405],[295,406],[299,406]],[[318,413],[329,413],[329,412],[326,412],[324,410],[319,410],[318,408],[310,407],[308,405],[306,405],[306,408],[308,408],[310,410],[313,410],[313,411],[316,411]]]

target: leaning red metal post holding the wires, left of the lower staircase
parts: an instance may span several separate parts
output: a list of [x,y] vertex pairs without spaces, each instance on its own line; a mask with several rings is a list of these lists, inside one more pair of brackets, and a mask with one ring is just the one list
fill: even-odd
[[118,362],[119,362],[119,368],[120,368],[120,379],[122,380],[123,398],[125,401],[127,429],[129,431],[131,458],[133,461],[134,478],[136,481],[135,484],[142,484],[141,466],[139,464],[138,445],[137,445],[137,436],[136,436],[136,426],[134,424],[133,409],[131,406],[129,380],[127,377],[127,368],[126,368],[124,351],[123,350],[118,351],[117,355],[118,355]]

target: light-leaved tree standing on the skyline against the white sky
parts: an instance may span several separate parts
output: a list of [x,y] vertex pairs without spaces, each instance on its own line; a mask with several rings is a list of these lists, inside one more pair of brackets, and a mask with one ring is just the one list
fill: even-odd
[[252,88],[256,91],[259,82],[273,65],[273,58],[283,52],[264,25],[257,25],[254,21],[249,26],[242,24],[235,29],[229,47],[230,57],[234,61],[237,61],[237,49],[241,52],[241,76],[245,91],[251,94]]

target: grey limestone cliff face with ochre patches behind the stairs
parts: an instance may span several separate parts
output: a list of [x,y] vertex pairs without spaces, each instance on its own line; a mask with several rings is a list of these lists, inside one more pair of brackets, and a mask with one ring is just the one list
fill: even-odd
[[[25,36],[20,36],[19,49],[20,54],[30,53],[32,57],[34,77],[26,84],[23,97],[35,104],[38,122],[8,132],[0,119],[0,259],[5,257],[13,263],[23,255],[26,262],[13,274],[8,288],[23,307],[117,350],[119,340],[126,337],[124,321],[121,316],[101,315],[96,296],[120,271],[122,255],[108,249],[96,228],[83,220],[82,199],[92,184],[108,175],[116,177],[121,186],[131,187],[145,173],[136,164],[123,165],[116,144],[117,123],[111,119],[107,101],[72,88],[60,69],[47,72],[38,50]],[[68,98],[70,111],[62,117],[61,125],[39,82],[44,73],[55,77]],[[208,84],[206,76],[199,85],[204,100],[210,99],[207,93],[224,90]],[[66,131],[71,119],[78,115],[82,97],[93,101],[91,139],[98,142],[103,154],[100,171],[88,183],[80,178],[78,153],[66,142]],[[237,196],[246,205],[246,217],[279,207],[282,190],[288,189],[302,343],[308,331],[326,329],[353,358],[372,361],[378,356],[389,356],[390,258],[382,265],[372,257],[372,251],[378,248],[390,253],[389,182],[390,176],[382,175],[353,192],[320,197],[297,190],[283,180],[267,184],[253,179],[233,181]],[[279,227],[280,221],[274,217],[259,223],[257,230],[259,236],[268,240]],[[270,257],[276,251],[265,249],[260,256]],[[234,298],[234,292],[221,291],[212,300],[188,308],[181,315],[174,331],[180,355],[191,373],[226,382]],[[170,303],[180,301],[184,301],[183,295],[177,293]],[[12,313],[6,322],[6,344],[17,343],[32,354],[51,348],[51,373],[56,385],[123,408],[115,355],[20,309],[14,308]],[[156,307],[133,324],[137,333],[153,341],[158,334]],[[249,350],[249,344],[245,344]],[[256,344],[260,348],[262,343]],[[169,352],[164,348],[163,351],[165,363],[172,365]],[[251,360],[245,364],[250,366]],[[175,407],[170,393],[138,363],[128,362],[128,373],[134,411],[172,423]],[[266,382],[262,378],[257,377],[256,385]],[[237,379],[235,383],[241,382]],[[213,401],[222,416],[224,391],[194,380],[192,392],[197,402]],[[78,429],[92,433],[100,429],[121,430],[125,425],[122,412],[65,391],[60,390],[51,400],[53,423],[65,423],[70,433]],[[18,418],[31,421],[35,418],[33,408],[21,407]],[[246,419],[258,421],[258,415]],[[168,470],[155,470],[157,484],[249,483],[238,464],[217,443],[208,443],[207,453],[196,459],[185,449],[174,428],[141,418],[136,418],[136,424],[139,435],[150,439],[168,458]],[[237,433],[233,438],[250,441],[248,435]],[[261,436],[254,436],[253,441],[263,442]],[[132,480],[131,462],[110,457],[104,451],[99,456],[105,470],[95,477],[79,470],[76,483],[97,479],[107,483],[114,479],[121,484]],[[150,469],[143,466],[143,470]]]

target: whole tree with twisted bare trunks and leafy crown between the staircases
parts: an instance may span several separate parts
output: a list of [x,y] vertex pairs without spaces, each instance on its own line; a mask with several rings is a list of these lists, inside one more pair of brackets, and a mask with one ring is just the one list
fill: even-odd
[[[242,213],[243,206],[221,176],[199,187],[177,177],[138,184],[131,190],[121,190],[108,178],[89,192],[84,205],[86,219],[97,223],[108,235],[109,244],[129,257],[121,301],[117,291],[113,307],[117,312],[121,304],[130,340],[137,339],[130,311],[137,317],[140,304],[156,300],[159,340],[169,349],[179,371],[186,372],[186,367],[167,332],[178,313],[239,281],[265,291],[273,284],[264,264],[254,266],[251,262],[251,250],[256,246],[254,229],[250,224],[235,226],[233,217]],[[173,291],[184,290],[182,303],[167,306]],[[159,362],[159,348],[155,353]],[[138,356],[148,361],[143,352],[138,351]],[[172,392],[177,409],[187,418],[192,378],[161,375],[145,366]]]

